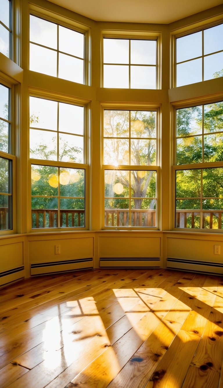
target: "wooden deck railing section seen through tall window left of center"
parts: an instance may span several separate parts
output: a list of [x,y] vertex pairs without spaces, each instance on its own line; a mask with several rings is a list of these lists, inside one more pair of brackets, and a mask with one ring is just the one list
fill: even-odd
[[[61,209],[60,227],[80,227],[81,214],[84,209]],[[57,228],[58,210],[53,209],[32,209],[32,227],[33,228]]]

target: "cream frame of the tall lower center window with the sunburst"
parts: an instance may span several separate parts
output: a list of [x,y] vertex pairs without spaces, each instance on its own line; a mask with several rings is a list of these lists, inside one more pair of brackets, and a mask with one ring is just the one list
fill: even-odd
[[[104,150],[104,111],[105,110],[123,110],[123,111],[154,111],[156,112],[156,165],[118,165],[117,168],[114,165],[105,165],[103,163],[103,150]],[[160,204],[161,204],[161,192],[160,192],[160,122],[161,122],[161,109],[158,104],[101,104],[101,230],[159,230],[160,228]],[[129,137],[130,139],[130,137]],[[143,139],[143,138],[142,138]],[[117,171],[156,171],[156,226],[155,227],[135,227],[135,226],[105,226],[105,171],[117,170]],[[130,199],[134,197],[129,196]],[[130,209],[129,209],[130,211]]]

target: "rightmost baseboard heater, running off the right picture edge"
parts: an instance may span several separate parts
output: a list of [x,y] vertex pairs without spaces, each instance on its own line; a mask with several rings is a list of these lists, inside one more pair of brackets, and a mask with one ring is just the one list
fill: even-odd
[[166,266],[167,268],[182,269],[193,272],[209,272],[212,274],[223,273],[222,263],[204,262],[201,260],[185,260],[168,257]]

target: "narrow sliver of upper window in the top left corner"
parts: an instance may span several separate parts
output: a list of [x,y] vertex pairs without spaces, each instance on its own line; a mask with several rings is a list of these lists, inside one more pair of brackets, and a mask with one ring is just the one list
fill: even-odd
[[11,56],[11,0],[1,1],[0,12],[0,52],[8,58]]

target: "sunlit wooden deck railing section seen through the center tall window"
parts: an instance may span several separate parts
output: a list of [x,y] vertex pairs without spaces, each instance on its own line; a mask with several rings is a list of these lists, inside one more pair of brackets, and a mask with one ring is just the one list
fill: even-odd
[[[129,226],[129,210],[106,209],[105,226]],[[131,209],[131,226],[155,227],[156,210]]]

